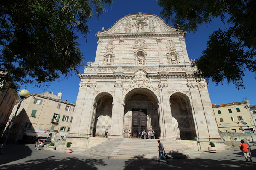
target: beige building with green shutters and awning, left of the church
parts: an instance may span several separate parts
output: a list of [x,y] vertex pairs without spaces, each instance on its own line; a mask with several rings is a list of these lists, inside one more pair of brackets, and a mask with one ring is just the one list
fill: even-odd
[[35,139],[50,139],[55,142],[63,139],[70,131],[75,104],[61,100],[62,94],[51,92],[29,94],[22,99],[21,106],[16,102],[12,110],[15,116],[9,141],[34,142]]

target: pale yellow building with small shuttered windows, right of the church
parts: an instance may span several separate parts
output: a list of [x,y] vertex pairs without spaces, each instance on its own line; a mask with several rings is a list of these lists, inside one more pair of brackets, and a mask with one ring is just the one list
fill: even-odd
[[225,103],[221,105],[212,104],[218,130],[221,132],[254,133],[256,130],[256,115],[249,101]]

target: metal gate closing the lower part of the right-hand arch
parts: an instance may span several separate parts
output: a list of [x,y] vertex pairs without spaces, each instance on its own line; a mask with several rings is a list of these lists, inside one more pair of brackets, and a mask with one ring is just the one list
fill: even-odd
[[172,114],[172,127],[177,140],[195,140],[195,125],[192,115]]

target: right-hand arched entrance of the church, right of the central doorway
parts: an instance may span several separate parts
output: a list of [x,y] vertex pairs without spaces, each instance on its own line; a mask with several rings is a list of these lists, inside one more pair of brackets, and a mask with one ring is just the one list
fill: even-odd
[[195,124],[189,98],[182,93],[175,93],[170,97],[170,103],[175,138],[178,140],[195,139]]

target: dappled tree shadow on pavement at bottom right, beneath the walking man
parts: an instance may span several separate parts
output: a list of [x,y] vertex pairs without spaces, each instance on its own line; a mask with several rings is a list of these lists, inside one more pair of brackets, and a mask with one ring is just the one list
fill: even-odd
[[[256,154],[256,150],[252,150],[252,155]],[[252,157],[253,162],[245,162],[242,152],[233,153],[235,155],[223,155],[222,159],[169,159],[169,164],[161,159],[160,164],[156,164],[157,160],[145,159],[143,156],[136,156],[134,159],[125,161],[123,170],[241,170],[255,169],[256,159]],[[238,156],[236,156],[238,155]]]

